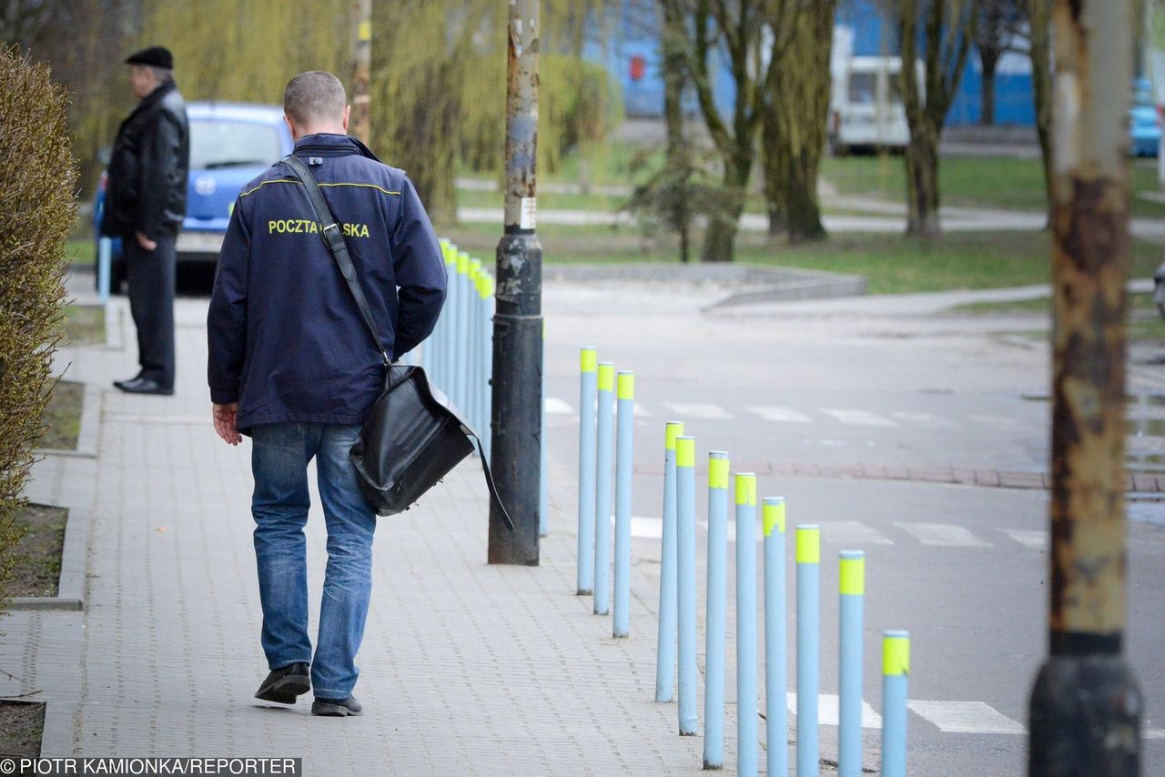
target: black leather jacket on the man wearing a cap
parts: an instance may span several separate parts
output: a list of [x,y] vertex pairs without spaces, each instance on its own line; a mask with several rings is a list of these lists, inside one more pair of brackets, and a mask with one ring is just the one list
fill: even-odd
[[175,235],[186,216],[190,132],[175,84],[147,94],[121,122],[110,158],[101,233],[156,240]]

